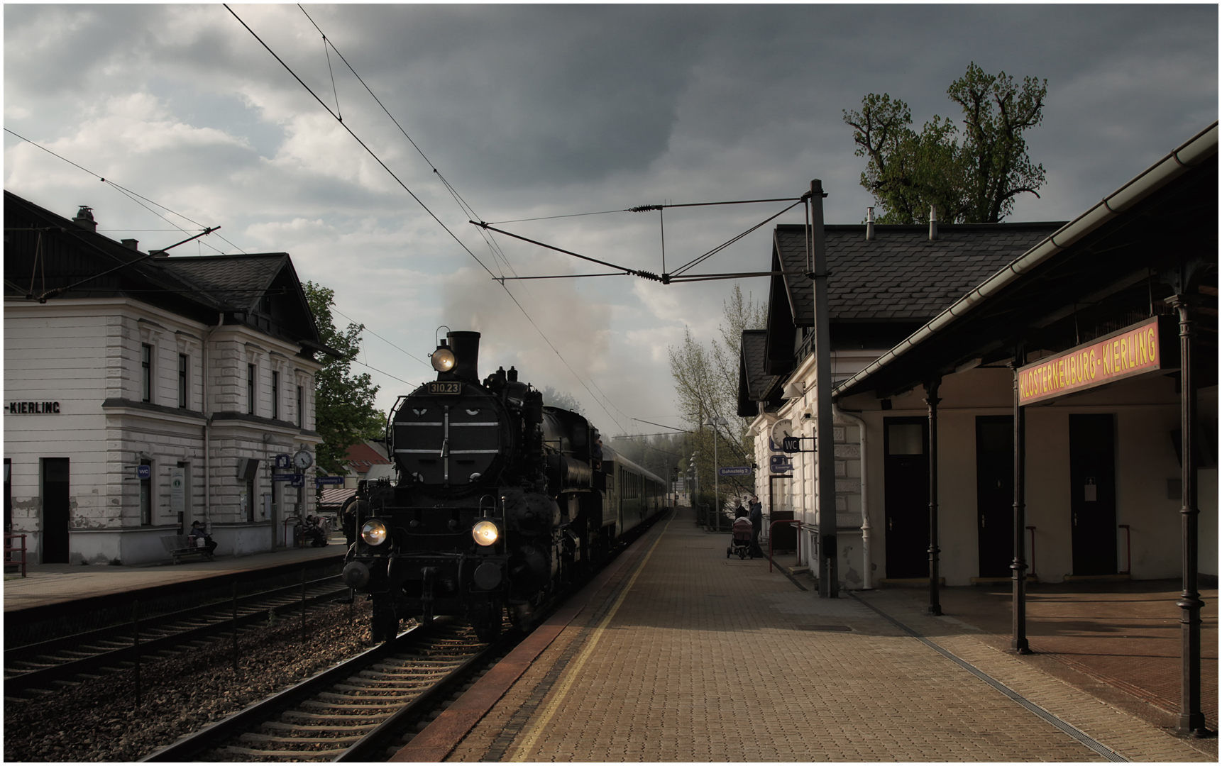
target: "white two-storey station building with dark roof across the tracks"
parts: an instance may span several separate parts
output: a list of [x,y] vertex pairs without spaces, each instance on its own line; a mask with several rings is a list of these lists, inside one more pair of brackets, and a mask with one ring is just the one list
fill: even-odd
[[273,480],[313,474],[329,351],[287,253],[144,253],[5,192],[4,269],[5,531],[31,561],[163,560],[196,519],[218,553],[270,551],[313,509]]

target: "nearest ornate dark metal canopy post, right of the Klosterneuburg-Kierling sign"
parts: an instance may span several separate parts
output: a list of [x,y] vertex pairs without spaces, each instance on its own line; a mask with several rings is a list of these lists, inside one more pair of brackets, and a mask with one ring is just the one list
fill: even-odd
[[[1184,280],[1185,282],[1188,280]],[[1205,713],[1201,711],[1201,594],[1196,590],[1196,545],[1198,517],[1196,507],[1196,452],[1193,448],[1193,430],[1196,425],[1196,391],[1193,381],[1193,337],[1196,335],[1193,318],[1193,304],[1187,294],[1177,293],[1171,298],[1172,305],[1179,312],[1179,437],[1180,437],[1180,486],[1183,487],[1180,505],[1180,533],[1183,561],[1183,585],[1179,594],[1180,628],[1180,701],[1179,722],[1176,731],[1180,734],[1206,737]]]

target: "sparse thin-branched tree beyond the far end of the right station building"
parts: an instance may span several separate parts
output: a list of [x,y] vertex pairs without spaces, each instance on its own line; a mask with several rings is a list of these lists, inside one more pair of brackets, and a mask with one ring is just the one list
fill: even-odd
[[[710,492],[704,502],[714,502],[712,474],[714,454],[723,465],[749,465],[753,461],[750,439],[747,429],[750,419],[739,418],[738,410],[738,359],[743,330],[765,326],[766,314],[763,303],[754,302],[750,296],[743,296],[736,283],[730,299],[722,303],[722,321],[717,327],[719,338],[705,346],[692,337],[692,330],[684,330],[683,345],[670,349],[671,376],[675,378],[675,392],[679,401],[679,415],[690,428],[688,439],[681,447],[684,458],[698,452],[697,470],[700,474],[700,489]],[[725,425],[703,425],[711,418],[725,420]],[[716,439],[716,450],[714,450]],[[727,462],[734,461],[734,462]],[[681,463],[687,468],[687,461]],[[726,479],[720,483],[727,491],[750,491],[753,487],[741,480]]]

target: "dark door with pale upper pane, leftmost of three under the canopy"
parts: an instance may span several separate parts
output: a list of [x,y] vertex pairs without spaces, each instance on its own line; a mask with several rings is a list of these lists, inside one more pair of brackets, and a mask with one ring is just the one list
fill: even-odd
[[929,420],[884,418],[887,577],[929,577]]

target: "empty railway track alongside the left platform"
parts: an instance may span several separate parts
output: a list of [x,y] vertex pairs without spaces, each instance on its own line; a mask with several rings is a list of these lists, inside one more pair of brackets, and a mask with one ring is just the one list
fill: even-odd
[[[238,597],[238,629],[266,619],[269,612],[285,617],[303,605],[308,607],[348,593],[340,585],[338,575],[304,583],[304,599],[302,590],[302,585],[287,585]],[[194,641],[227,635],[233,627],[233,602],[224,601],[141,621],[138,649],[130,623],[6,649],[5,698],[20,700],[22,694],[51,693],[71,687],[77,677],[126,669],[137,656],[174,652]]]

